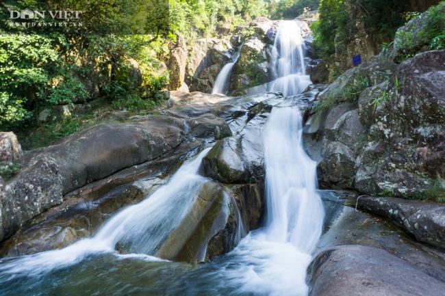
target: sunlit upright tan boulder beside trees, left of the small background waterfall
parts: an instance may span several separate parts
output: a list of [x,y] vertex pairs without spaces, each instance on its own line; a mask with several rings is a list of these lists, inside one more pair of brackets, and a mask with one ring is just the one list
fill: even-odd
[[170,52],[168,70],[170,71],[169,90],[178,90],[186,79],[187,44],[183,36],[179,35],[175,48]]

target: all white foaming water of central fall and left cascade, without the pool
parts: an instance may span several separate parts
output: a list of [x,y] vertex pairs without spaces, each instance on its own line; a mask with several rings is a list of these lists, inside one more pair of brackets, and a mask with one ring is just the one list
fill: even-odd
[[[290,36],[300,40],[301,36],[294,25],[283,24],[275,42],[275,90],[284,92],[285,88],[288,94],[298,94],[303,90],[302,85],[307,83],[304,68],[301,62],[292,62],[296,69],[288,69],[282,61],[303,60],[302,42],[288,42],[285,38]],[[286,45],[288,43],[292,46]],[[283,51],[285,48],[288,50]],[[303,79],[300,80],[301,77]],[[283,81],[283,89],[278,89],[279,79]],[[267,203],[265,225],[242,239],[238,247],[227,255],[225,263],[202,275],[202,278],[210,278],[210,282],[216,280],[243,295],[307,295],[306,270],[322,231],[324,211],[316,193],[316,163],[305,154],[301,136],[302,118],[298,107],[274,107],[264,126],[263,138]],[[198,174],[207,151],[181,166],[169,182],[149,198],[114,215],[92,239],[84,239],[62,250],[14,259],[0,265],[0,271],[11,277],[18,273],[36,275],[79,263],[93,253],[114,252],[116,243],[130,252],[153,254],[165,236],[181,223],[199,186],[207,180]],[[116,256],[160,260],[144,254]],[[194,280],[198,279],[190,279]],[[199,288],[203,290],[200,295],[206,295],[205,289],[212,291],[213,287]]]

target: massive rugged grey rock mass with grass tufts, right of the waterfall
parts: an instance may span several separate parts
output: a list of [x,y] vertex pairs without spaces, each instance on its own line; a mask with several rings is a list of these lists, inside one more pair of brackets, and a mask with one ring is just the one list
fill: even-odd
[[444,64],[445,51],[427,51],[398,66],[376,61],[348,70],[329,85],[318,96],[325,123],[306,138],[320,143],[320,185],[435,198],[429,191],[443,187],[437,179],[445,172]]

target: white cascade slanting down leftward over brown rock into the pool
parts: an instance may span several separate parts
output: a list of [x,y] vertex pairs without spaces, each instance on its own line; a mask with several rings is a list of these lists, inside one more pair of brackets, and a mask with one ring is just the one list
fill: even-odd
[[177,228],[188,207],[193,204],[200,185],[208,180],[198,172],[209,150],[203,150],[197,157],[184,163],[168,183],[149,198],[115,214],[91,239],[83,239],[60,250],[22,256],[1,265],[1,271],[10,274],[47,272],[78,263],[90,254],[114,252],[116,243],[123,244],[125,251],[135,253],[133,255],[139,254],[147,260],[161,260],[144,254],[153,253],[168,234]]

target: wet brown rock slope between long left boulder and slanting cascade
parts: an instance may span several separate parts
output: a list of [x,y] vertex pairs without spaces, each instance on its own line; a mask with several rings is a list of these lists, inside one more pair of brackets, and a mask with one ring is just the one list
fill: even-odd
[[66,247],[79,239],[91,237],[112,213],[127,204],[139,202],[143,197],[138,187],[125,185],[98,200],[73,198],[30,221],[27,227],[2,245],[0,254],[22,256]]

